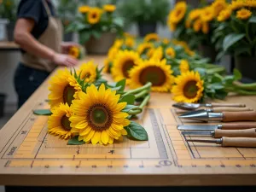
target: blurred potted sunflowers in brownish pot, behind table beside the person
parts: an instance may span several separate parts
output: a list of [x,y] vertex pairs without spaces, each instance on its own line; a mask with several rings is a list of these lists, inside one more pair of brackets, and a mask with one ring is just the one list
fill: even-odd
[[124,21],[116,15],[115,9],[113,4],[80,6],[79,16],[67,26],[67,32],[79,32],[80,44],[84,44],[89,54],[107,54],[124,27]]

